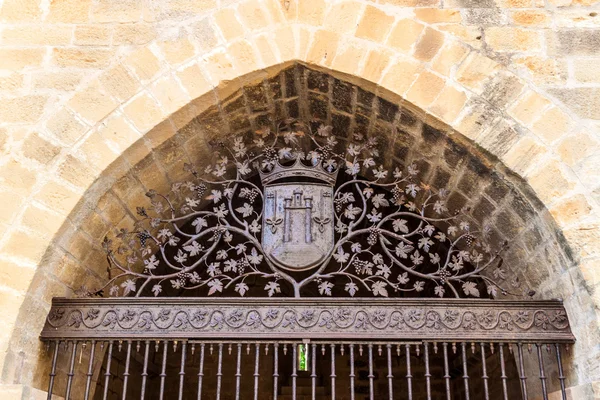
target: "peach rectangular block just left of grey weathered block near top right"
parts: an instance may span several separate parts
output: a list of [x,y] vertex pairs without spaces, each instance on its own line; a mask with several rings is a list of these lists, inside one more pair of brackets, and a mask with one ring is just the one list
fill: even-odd
[[542,37],[536,30],[494,26],[485,30],[485,40],[501,52],[534,53],[542,49]]

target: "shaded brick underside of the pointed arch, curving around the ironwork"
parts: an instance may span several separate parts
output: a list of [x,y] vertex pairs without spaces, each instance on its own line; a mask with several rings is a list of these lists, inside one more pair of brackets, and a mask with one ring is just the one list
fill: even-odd
[[[498,242],[510,242],[504,266],[519,277],[522,287],[535,290],[536,298],[565,299],[580,340],[574,352],[580,362],[570,379],[576,384],[579,376],[590,376],[593,368],[586,360],[595,354],[595,314],[587,292],[576,290],[585,287],[571,268],[576,260],[544,204],[496,157],[400,96],[313,65],[283,64],[225,85],[219,96],[208,97],[179,111],[179,121],[187,123],[164,143],[151,152],[146,149],[147,155],[139,156],[133,166],[128,156],[136,149],[130,149],[82,197],[46,252],[21,308],[4,366],[6,382],[44,388],[47,371],[37,367],[47,365],[48,356],[37,335],[51,297],[69,297],[82,283],[101,282],[106,268],[100,248],[103,236],[132,226],[135,207],[145,203],[148,189],[167,191],[171,182],[183,177],[185,162],[202,165],[210,157],[209,141],[288,117],[318,118],[334,131],[383,136],[391,145],[384,149],[386,157],[401,165],[415,162],[425,172],[424,181],[449,187],[451,204],[469,206],[475,224],[491,225]],[[165,136],[171,124],[157,126],[148,138]]]

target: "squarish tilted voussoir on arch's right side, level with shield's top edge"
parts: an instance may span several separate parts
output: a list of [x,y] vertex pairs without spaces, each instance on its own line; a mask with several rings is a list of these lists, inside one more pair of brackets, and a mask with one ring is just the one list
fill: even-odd
[[575,187],[575,182],[565,175],[560,162],[555,160],[537,166],[535,171],[528,174],[527,182],[545,204],[550,204]]

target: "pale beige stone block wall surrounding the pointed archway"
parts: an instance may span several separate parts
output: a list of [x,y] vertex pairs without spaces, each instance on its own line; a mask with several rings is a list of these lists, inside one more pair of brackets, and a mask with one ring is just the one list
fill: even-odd
[[[571,293],[571,318],[593,332],[600,314],[600,17],[592,3],[4,0],[2,357],[15,326],[34,326],[51,296],[68,295],[82,274],[97,279],[101,271],[73,259],[100,265],[95,241],[126,217],[118,196],[140,195],[121,176],[135,166],[136,176],[160,179],[140,161],[228,98],[239,77],[268,75],[260,71],[291,60],[396,93],[523,178],[569,249],[571,261],[548,272],[560,288],[547,293]],[[82,224],[90,210],[110,218]],[[56,279],[45,272],[33,279],[43,265],[54,266]],[[600,376],[599,349],[594,336],[578,339],[589,351],[577,353],[581,373],[573,383],[585,384]],[[4,368],[6,384],[28,384],[15,374],[18,357]]]

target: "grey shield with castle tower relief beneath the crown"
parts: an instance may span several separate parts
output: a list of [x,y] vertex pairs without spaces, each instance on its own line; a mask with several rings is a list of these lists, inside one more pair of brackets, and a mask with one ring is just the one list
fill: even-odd
[[333,187],[319,183],[265,186],[262,246],[277,266],[307,270],[333,249]]

